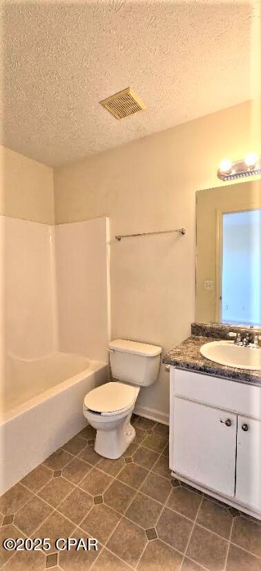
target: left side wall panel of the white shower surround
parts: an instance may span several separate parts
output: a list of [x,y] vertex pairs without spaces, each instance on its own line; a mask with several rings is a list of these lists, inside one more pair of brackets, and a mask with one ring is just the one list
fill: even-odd
[[0,217],[2,343],[14,359],[57,350],[54,226]]

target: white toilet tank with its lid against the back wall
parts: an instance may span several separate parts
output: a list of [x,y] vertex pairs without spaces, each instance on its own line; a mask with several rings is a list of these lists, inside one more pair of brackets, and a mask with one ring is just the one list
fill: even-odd
[[149,386],[157,381],[162,347],[115,339],[108,348],[114,379],[138,386]]

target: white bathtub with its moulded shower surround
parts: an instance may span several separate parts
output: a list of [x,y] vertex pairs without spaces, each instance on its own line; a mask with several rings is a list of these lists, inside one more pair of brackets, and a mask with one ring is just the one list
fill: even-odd
[[1,493],[79,432],[84,395],[107,380],[108,236],[105,217],[0,217]]

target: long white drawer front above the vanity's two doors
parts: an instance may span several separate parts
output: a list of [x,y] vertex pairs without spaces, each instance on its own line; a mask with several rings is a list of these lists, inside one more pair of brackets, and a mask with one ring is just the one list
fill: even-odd
[[261,388],[171,367],[175,395],[261,419]]

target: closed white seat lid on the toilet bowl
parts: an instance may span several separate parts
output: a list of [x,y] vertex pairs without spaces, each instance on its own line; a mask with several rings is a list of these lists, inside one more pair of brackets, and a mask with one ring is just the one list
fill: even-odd
[[84,406],[95,413],[120,413],[131,407],[138,392],[138,387],[124,383],[106,383],[88,392],[84,398]]

